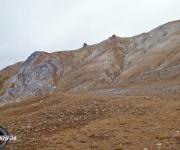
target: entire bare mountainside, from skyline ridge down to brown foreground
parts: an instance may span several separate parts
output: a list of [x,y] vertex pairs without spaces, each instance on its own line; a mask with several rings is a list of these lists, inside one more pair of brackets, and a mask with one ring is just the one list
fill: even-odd
[[180,21],[34,52],[0,71],[0,89],[7,150],[179,150]]

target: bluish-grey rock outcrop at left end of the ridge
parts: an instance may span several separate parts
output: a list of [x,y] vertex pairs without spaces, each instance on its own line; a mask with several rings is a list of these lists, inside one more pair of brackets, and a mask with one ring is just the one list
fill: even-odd
[[1,101],[51,93],[63,74],[63,64],[45,52],[33,53],[10,79]]

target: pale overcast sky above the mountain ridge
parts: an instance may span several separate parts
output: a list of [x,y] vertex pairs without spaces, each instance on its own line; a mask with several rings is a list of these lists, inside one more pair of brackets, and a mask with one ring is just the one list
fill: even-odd
[[0,68],[180,19],[180,0],[0,0]]

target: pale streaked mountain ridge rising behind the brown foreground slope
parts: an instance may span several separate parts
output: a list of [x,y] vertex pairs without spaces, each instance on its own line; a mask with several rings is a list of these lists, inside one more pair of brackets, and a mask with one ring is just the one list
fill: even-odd
[[0,71],[0,103],[57,91],[179,94],[180,21],[74,51],[34,52]]

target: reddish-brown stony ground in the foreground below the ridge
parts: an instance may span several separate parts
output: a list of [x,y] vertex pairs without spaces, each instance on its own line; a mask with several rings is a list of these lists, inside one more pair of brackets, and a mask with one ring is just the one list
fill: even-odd
[[5,150],[180,150],[179,96],[56,93],[0,108]]

